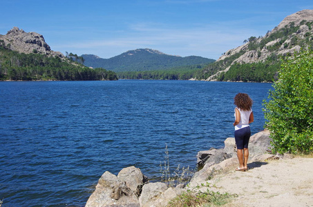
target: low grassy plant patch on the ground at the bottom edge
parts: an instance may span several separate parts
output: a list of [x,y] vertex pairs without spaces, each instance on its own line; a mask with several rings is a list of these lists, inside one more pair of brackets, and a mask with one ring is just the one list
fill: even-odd
[[[200,191],[201,187],[207,187],[207,190]],[[212,186],[214,187],[214,186]],[[237,197],[238,195],[231,195],[229,193],[219,193],[209,190],[211,188],[209,183],[207,185],[202,184],[201,186],[196,186],[191,190],[187,190],[176,198],[172,199],[168,207],[187,207],[187,206],[206,206],[214,204],[215,206],[222,206],[227,204],[231,197]]]

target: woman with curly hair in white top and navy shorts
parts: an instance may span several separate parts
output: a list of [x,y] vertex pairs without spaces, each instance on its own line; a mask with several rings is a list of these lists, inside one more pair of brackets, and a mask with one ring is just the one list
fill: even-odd
[[234,98],[235,108],[235,140],[239,167],[236,171],[248,170],[249,157],[248,144],[251,135],[249,124],[254,121],[252,112],[252,99],[246,93],[238,93]]

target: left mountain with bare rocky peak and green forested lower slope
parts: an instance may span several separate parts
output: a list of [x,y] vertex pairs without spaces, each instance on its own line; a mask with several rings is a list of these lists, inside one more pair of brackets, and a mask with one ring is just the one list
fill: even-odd
[[117,80],[115,72],[88,68],[70,55],[51,50],[41,34],[12,28],[0,34],[0,81]]

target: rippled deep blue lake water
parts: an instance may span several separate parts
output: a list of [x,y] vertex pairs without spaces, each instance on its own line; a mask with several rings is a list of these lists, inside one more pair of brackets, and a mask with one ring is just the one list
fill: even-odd
[[84,206],[99,177],[127,166],[153,180],[234,137],[234,96],[254,100],[263,130],[270,83],[0,82],[0,199],[7,206]]

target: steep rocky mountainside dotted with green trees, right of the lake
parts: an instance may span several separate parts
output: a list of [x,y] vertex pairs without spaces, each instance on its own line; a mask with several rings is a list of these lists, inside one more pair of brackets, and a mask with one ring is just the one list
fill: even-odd
[[196,79],[206,81],[271,81],[282,57],[301,48],[313,48],[313,10],[285,17],[265,37],[250,37],[242,46],[228,50]]

